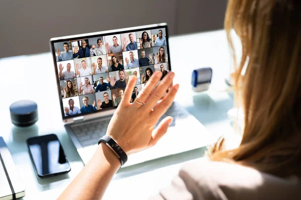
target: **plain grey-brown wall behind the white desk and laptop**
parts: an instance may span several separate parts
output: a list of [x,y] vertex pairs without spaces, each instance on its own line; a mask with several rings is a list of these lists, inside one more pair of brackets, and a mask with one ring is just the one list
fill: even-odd
[[169,23],[170,35],[219,29],[225,7],[226,0],[2,0],[0,57],[49,51],[55,36],[151,23]]

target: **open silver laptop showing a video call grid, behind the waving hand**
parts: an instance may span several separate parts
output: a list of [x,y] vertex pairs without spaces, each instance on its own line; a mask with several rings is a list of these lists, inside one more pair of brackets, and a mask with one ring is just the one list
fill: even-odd
[[[129,76],[137,76],[133,101],[155,70],[163,75],[172,70],[168,38],[168,25],[159,23],[50,39],[62,120],[85,164],[106,133]],[[177,102],[161,119],[168,115],[174,121],[162,139],[131,154],[123,167],[214,142]]]

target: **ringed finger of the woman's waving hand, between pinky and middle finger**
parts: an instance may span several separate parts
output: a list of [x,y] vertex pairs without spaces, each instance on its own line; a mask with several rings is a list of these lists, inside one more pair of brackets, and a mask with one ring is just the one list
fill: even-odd
[[[142,89],[141,92],[139,92],[136,100],[138,102],[145,102],[146,99],[148,98],[150,92],[153,91],[154,87],[158,83],[162,76],[162,73],[160,71],[155,71],[152,76],[150,76],[149,80],[145,84],[144,88]],[[142,74],[142,77],[144,77],[144,73]],[[143,79],[143,78],[142,78]]]

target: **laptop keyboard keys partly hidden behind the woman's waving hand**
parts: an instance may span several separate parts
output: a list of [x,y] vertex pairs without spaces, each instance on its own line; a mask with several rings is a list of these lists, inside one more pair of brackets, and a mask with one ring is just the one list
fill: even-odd
[[[155,128],[159,125],[160,121],[166,116],[173,116],[174,120],[170,126],[176,125],[176,120],[186,118],[188,115],[178,103],[174,102],[166,113],[159,119]],[[78,124],[71,125],[74,135],[83,147],[97,144],[98,139],[105,135],[110,118],[104,120],[91,120]]]

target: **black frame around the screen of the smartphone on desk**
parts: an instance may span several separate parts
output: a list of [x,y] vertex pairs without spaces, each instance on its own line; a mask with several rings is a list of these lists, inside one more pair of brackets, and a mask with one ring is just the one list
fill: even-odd
[[55,172],[55,173],[47,173],[47,174],[39,174],[38,173],[38,170],[37,170],[37,166],[36,166],[36,163],[35,163],[35,160],[34,160],[34,157],[32,155],[32,151],[30,150],[30,145],[33,145],[33,141],[35,140],[46,140],[46,141],[53,141],[53,140],[57,140],[60,144],[60,146],[62,146],[59,138],[57,137],[56,134],[47,134],[47,135],[41,135],[41,136],[35,136],[35,137],[30,137],[26,140],[26,143],[27,143],[27,147],[28,147],[28,150],[29,150],[29,154],[30,154],[30,157],[32,159],[32,163],[34,165],[34,168],[35,168],[35,171],[36,171],[36,174],[38,175],[38,177],[40,178],[44,178],[44,177],[50,177],[50,176],[55,176],[55,175],[60,175],[60,174],[65,174],[65,173],[68,173],[69,171],[71,171],[71,166],[70,166],[70,163],[68,161],[68,158],[65,154],[65,151],[64,151],[64,148],[63,148],[63,153],[64,153],[64,156],[65,156],[65,159],[66,159],[66,163],[68,163],[69,165],[69,168],[66,169],[66,170],[61,170],[59,172]]

